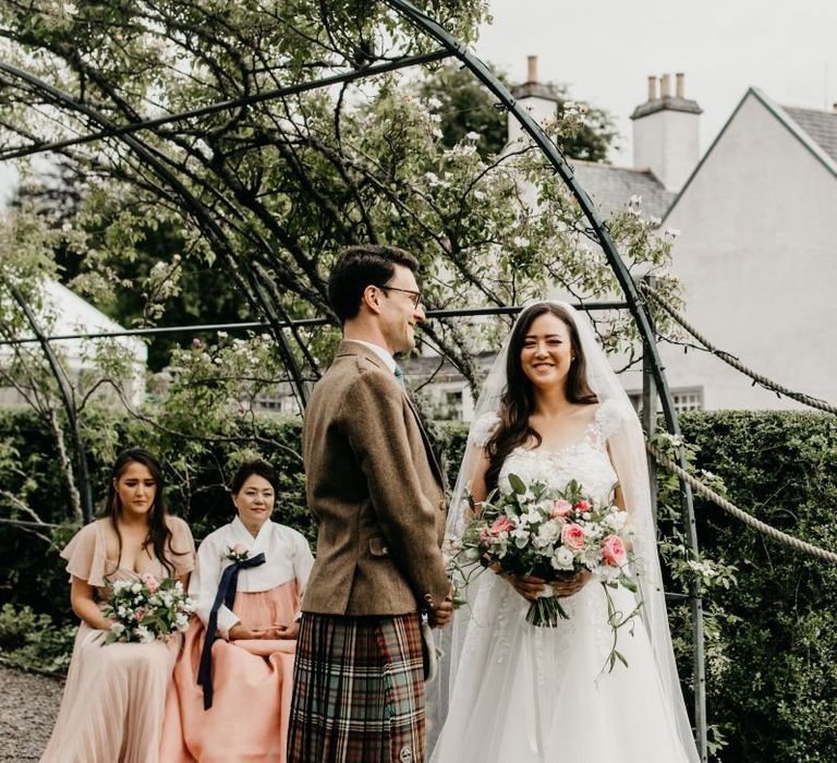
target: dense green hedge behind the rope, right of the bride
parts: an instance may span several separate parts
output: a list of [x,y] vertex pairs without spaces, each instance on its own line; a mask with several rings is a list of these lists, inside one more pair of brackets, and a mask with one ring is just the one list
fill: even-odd
[[[837,420],[815,413],[690,413],[696,465],[729,499],[837,550]],[[837,759],[837,567],[765,538],[695,500],[701,550],[736,564],[738,584],[707,592],[713,611],[711,723],[738,763]],[[681,635],[687,635],[682,630]]]

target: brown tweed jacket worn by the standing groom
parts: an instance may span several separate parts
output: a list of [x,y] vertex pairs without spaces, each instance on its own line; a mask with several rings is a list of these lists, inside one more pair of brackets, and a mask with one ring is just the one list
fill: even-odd
[[374,351],[343,341],[303,424],[317,555],[302,609],[403,615],[449,583],[442,476],[412,402]]

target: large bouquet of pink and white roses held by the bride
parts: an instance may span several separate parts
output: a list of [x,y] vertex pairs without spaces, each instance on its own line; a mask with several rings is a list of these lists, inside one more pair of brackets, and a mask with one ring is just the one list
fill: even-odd
[[[611,502],[602,504],[584,494],[570,481],[563,491],[542,483],[526,485],[518,475],[509,475],[511,493],[494,492],[482,504],[471,501],[472,519],[460,544],[451,554],[450,566],[462,576],[464,566],[474,562],[519,577],[536,577],[548,582],[571,580],[585,570],[605,589],[608,621],[614,644],[607,664],[628,664],[616,650],[616,637],[639,613],[640,604],[624,614],[617,609],[611,589],[620,585],[631,592],[639,586],[631,572],[628,514]],[[465,581],[468,576],[464,577]],[[526,622],[539,628],[555,628],[558,619],[568,619],[560,598],[547,584],[544,593],[526,613]]]

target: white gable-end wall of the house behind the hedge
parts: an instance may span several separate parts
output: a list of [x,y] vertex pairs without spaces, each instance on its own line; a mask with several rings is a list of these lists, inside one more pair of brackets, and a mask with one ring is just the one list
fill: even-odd
[[[837,402],[837,177],[752,93],[664,226],[709,339],[781,384]],[[670,385],[707,409],[798,408],[705,353],[662,348]]]

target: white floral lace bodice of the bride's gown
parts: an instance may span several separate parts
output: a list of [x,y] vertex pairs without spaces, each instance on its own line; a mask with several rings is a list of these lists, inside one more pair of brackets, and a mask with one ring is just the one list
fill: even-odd
[[618,405],[605,402],[598,405],[578,443],[557,450],[515,448],[500,470],[500,491],[511,492],[509,474],[517,474],[527,485],[541,482],[554,489],[563,489],[570,480],[575,480],[594,500],[607,501],[617,483],[607,453],[607,438],[618,428],[620,413]]

